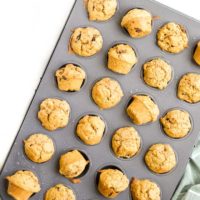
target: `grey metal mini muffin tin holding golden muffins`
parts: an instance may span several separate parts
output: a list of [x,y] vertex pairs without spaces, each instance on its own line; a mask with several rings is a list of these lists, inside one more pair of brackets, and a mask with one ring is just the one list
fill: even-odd
[[[122,17],[132,8],[144,8],[159,16],[153,22],[153,32],[141,39],[132,39],[125,30],[120,27]],[[189,35],[189,48],[179,54],[170,54],[161,51],[156,44],[156,33],[165,23],[175,21],[182,24]],[[77,27],[96,27],[103,36],[103,49],[94,56],[80,57],[68,51],[68,44],[73,29]],[[45,69],[41,81],[36,88],[33,100],[28,108],[26,116],[13,143],[7,160],[0,175],[0,195],[3,200],[11,199],[7,195],[7,181],[5,177],[17,170],[31,170],[40,179],[41,191],[31,199],[42,200],[45,192],[50,187],[63,183],[72,188],[78,200],[105,199],[96,189],[97,170],[105,166],[120,168],[131,180],[132,177],[147,178],[155,181],[161,188],[162,199],[171,199],[183,173],[189,156],[197,140],[200,130],[199,110],[200,103],[189,104],[177,98],[177,84],[180,78],[187,72],[198,73],[199,67],[192,61],[192,53],[198,41],[200,23],[190,17],[176,12],[153,0],[119,0],[118,10],[114,17],[106,22],[92,22],[88,20],[87,11],[83,0],[76,0],[73,10],[62,31],[56,48]],[[137,49],[138,63],[128,75],[118,75],[108,70],[107,51],[114,43],[123,41]],[[145,85],[141,79],[143,64],[153,58],[162,57],[169,61],[174,70],[174,76],[168,87],[163,90],[156,90]],[[55,71],[67,63],[80,63],[80,66],[87,73],[87,81],[79,92],[61,92],[58,90],[54,78]],[[124,97],[121,102],[110,110],[100,110],[91,98],[93,84],[102,77],[111,77],[117,80],[122,86]],[[133,94],[150,94],[160,109],[160,116],[166,111],[179,107],[187,110],[193,121],[190,134],[183,139],[171,139],[163,134],[159,120],[143,126],[132,124],[125,109]],[[45,130],[38,118],[37,112],[40,103],[46,98],[58,98],[66,100],[71,107],[70,120],[67,127],[53,132]],[[106,122],[106,131],[100,144],[94,146],[84,145],[75,136],[76,123],[80,116],[85,113],[100,115]],[[118,128],[134,126],[142,138],[142,148],[134,159],[118,159],[112,153],[110,141],[113,133]],[[35,164],[28,160],[23,151],[23,140],[33,133],[44,133],[50,136],[56,147],[53,158],[43,164]],[[167,143],[173,146],[178,160],[177,166],[169,173],[158,175],[148,170],[144,163],[144,155],[148,148],[156,143]],[[59,174],[59,158],[61,154],[69,149],[78,149],[84,152],[90,160],[89,169],[80,184],[72,184],[68,179]],[[131,200],[130,191],[127,189],[121,193],[117,200]]]

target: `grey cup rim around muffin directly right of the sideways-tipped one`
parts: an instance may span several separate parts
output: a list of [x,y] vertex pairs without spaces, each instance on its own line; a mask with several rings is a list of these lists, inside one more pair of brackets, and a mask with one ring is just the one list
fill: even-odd
[[[177,142],[178,142],[178,141],[181,142],[182,140],[186,140],[186,139],[188,139],[188,138],[190,137],[190,134],[192,133],[192,130],[193,130],[193,118],[192,118],[190,112],[188,112],[186,109],[183,109],[183,108],[181,108],[181,107],[174,107],[174,108],[168,109],[167,111],[164,112],[164,114],[163,114],[162,117],[165,117],[165,115],[166,115],[168,112],[173,111],[173,110],[181,110],[181,111],[185,111],[185,112],[187,112],[187,113],[189,114],[190,123],[191,123],[191,129],[189,130],[189,132],[187,133],[187,135],[185,135],[185,136],[182,137],[182,138],[173,138],[173,137],[170,137],[169,135],[167,135],[167,134],[165,133],[164,129],[163,129],[163,125],[162,125],[161,122],[160,122],[160,130],[161,130],[161,132],[162,132],[166,137],[168,137],[169,139],[174,140],[174,141],[177,141]],[[160,118],[160,119],[161,119],[161,118]]]

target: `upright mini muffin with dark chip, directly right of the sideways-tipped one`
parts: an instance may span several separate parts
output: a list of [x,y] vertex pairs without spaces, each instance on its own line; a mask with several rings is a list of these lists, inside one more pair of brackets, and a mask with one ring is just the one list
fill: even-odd
[[183,110],[171,110],[160,119],[165,133],[172,138],[183,138],[191,130],[190,115]]

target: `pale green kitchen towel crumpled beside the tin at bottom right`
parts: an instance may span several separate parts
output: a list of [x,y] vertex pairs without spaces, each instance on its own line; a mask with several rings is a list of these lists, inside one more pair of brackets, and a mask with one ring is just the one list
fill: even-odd
[[172,200],[200,200],[200,139]]

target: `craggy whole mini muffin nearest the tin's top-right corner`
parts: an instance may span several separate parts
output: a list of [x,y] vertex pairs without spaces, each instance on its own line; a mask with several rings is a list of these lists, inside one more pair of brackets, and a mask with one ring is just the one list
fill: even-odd
[[158,46],[169,53],[179,53],[188,47],[188,37],[183,26],[170,22],[157,33]]

